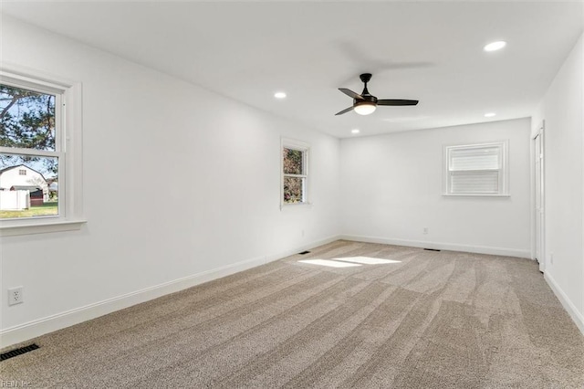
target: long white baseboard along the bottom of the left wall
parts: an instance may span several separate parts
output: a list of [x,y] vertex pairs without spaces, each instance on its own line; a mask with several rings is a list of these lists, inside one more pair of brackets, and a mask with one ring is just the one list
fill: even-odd
[[19,342],[36,338],[37,336],[48,332],[61,330],[63,328],[78,324],[83,321],[98,318],[116,310],[123,310],[132,305],[141,302],[157,299],[164,295],[174,293],[183,289],[192,288],[196,285],[208,282],[214,279],[220,279],[225,276],[235,274],[248,268],[255,268],[267,262],[272,262],[279,258],[285,258],[296,254],[299,251],[307,250],[311,247],[318,247],[327,243],[338,240],[339,237],[328,237],[300,247],[286,250],[276,255],[246,259],[226,265],[220,268],[206,270],[201,273],[193,274],[182,279],[174,279],[150,288],[136,290],[108,300],[102,300],[93,304],[79,307],[74,310],[67,310],[55,315],[47,316],[35,321],[28,321],[14,327],[6,328],[0,331],[0,347],[10,346]]

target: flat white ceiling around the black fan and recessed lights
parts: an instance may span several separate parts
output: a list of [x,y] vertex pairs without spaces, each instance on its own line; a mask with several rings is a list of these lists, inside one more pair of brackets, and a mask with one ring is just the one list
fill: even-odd
[[[5,14],[338,137],[527,117],[582,33],[577,2],[30,2]],[[501,51],[483,46],[506,40]],[[380,107],[335,116],[373,73]],[[286,100],[275,100],[277,90]],[[495,118],[485,118],[495,111]]]

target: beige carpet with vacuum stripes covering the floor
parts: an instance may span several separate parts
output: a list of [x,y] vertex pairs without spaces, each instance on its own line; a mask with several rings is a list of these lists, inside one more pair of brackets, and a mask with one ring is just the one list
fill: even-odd
[[[342,260],[325,265],[353,266],[298,262],[331,258]],[[41,348],[0,363],[1,380],[43,388],[584,387],[583,337],[535,262],[348,241],[34,342]]]

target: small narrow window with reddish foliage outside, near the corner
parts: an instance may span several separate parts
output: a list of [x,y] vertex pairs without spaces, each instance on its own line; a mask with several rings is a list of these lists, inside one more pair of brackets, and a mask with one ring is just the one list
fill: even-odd
[[281,205],[308,204],[308,144],[282,141]]

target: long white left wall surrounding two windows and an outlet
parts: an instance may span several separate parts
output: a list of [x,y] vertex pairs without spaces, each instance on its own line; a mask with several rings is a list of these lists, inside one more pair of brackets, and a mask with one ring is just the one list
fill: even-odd
[[[339,235],[339,140],[2,21],[3,61],[83,83],[89,220],[2,238],[2,296],[25,289],[24,304],[0,299],[4,344]],[[279,209],[282,136],[311,146],[311,207]]]

